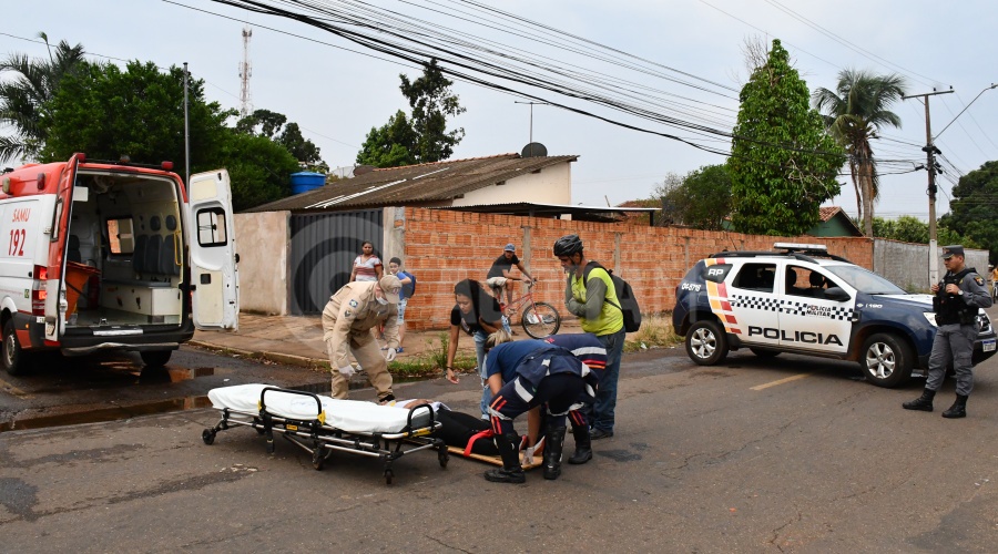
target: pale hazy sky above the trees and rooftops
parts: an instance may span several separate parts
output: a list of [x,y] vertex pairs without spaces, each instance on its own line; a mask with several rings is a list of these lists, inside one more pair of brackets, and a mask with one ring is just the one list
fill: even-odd
[[[954,93],[930,99],[933,135],[938,136],[946,172],[938,177],[937,215],[948,212],[950,189],[961,174],[998,160],[998,89],[978,98],[998,83],[998,10],[989,0],[481,1],[549,29],[536,32],[531,29],[537,28],[473,11],[466,0],[369,0],[367,4],[395,10],[408,21],[426,20],[468,33],[500,52],[529,53],[543,57],[550,66],[599,72],[612,80],[615,99],[648,91],[659,99],[655,113],[724,132],[734,125],[737,91],[747,79],[746,41],[780,39],[812,91],[834,90],[838,72],[847,68],[898,73],[906,79],[908,94],[951,88]],[[291,1],[268,3],[301,11]],[[364,6],[354,0],[305,3],[353,6],[354,10]],[[31,8],[22,6],[13,12],[4,10],[0,52],[43,57],[45,49],[37,35],[44,32],[50,42],[81,43],[92,58],[119,64],[140,60],[167,68],[187,62],[193,76],[205,81],[207,99],[234,109],[241,106],[242,32],[248,22],[253,106],[297,122],[330,167],[353,165],[373,126],[385,124],[397,110],[408,111],[398,89],[399,73],[410,79],[421,73],[414,63],[302,22],[210,0],[40,0]],[[572,41],[576,52],[550,47],[568,40],[556,30],[577,38]],[[601,61],[611,55],[617,62]],[[454,119],[451,126],[464,127],[466,136],[451,157],[520,152],[532,136],[550,155],[579,156],[572,165],[574,204],[617,205],[645,198],[670,173],[684,175],[725,161],[723,155],[653,133],[730,151],[730,143],[716,135],[491,80],[521,95],[456,79],[452,92],[467,112]],[[578,85],[571,78],[566,80]],[[652,133],[556,105],[532,106],[531,126],[531,106],[518,103],[530,100],[522,94]],[[900,116],[902,129],[884,130],[883,138],[873,144],[875,155],[885,161],[875,212],[887,218],[913,215],[925,220],[927,174],[913,171],[925,161],[925,107],[919,99],[909,99],[893,111]],[[842,194],[825,205],[842,206],[855,216],[852,181],[843,175],[841,182]]]

